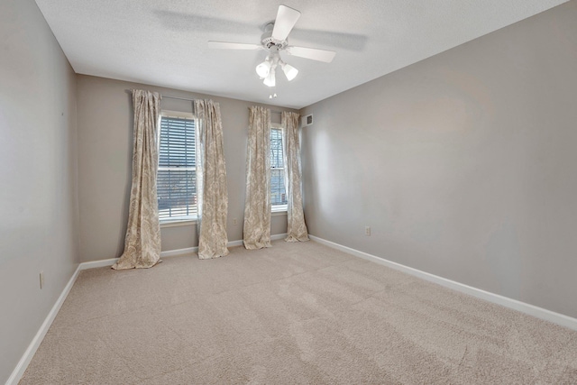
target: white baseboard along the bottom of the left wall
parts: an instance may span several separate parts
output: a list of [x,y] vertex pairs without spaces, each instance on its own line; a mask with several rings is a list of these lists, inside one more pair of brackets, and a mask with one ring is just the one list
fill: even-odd
[[28,368],[28,364],[32,361],[32,357],[38,350],[38,347],[40,346],[42,340],[44,339],[44,336],[46,335],[46,333],[48,333],[48,329],[50,329],[52,321],[54,321],[54,318],[56,318],[56,315],[58,314],[60,307],[62,307],[64,300],[69,295],[70,289],[72,289],[72,286],[74,286],[74,282],[76,282],[80,270],[81,270],[80,265],[78,265],[78,268],[74,271],[74,274],[72,274],[72,277],[70,277],[69,282],[62,290],[62,293],[60,293],[60,297],[56,300],[56,303],[50,309],[48,316],[46,316],[46,318],[44,319],[44,322],[40,326],[40,329],[38,329],[38,332],[36,333],[36,335],[34,335],[34,338],[32,338],[32,342],[28,345],[28,348],[26,348],[26,351],[23,353],[23,356],[16,365],[16,367],[14,368],[14,371],[12,372],[10,377],[8,377],[8,380],[6,380],[6,385],[16,385],[18,381],[22,379],[24,371],[26,371],[26,368]]

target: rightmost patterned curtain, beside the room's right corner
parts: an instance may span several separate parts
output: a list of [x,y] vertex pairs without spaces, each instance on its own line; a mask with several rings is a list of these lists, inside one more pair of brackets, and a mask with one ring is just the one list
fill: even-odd
[[303,212],[302,184],[300,179],[300,143],[298,141],[298,114],[283,112],[285,131],[285,184],[287,186],[287,242],[308,241],[307,225]]

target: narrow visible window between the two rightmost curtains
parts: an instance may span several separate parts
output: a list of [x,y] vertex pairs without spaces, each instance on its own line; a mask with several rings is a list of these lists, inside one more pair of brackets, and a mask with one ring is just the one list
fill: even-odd
[[282,129],[270,129],[270,204],[272,211],[287,210]]

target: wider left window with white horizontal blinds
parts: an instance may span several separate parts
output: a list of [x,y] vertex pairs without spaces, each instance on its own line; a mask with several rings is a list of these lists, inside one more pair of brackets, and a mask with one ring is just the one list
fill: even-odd
[[162,111],[156,179],[160,222],[197,218],[196,139],[193,115]]

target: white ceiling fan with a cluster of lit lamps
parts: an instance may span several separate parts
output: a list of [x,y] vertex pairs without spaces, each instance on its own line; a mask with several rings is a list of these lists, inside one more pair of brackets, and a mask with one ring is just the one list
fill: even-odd
[[311,60],[324,61],[330,63],[334,59],[334,50],[318,50],[315,48],[290,46],[288,37],[290,31],[298,21],[300,12],[287,5],[279,5],[277,19],[274,23],[268,23],[264,27],[261,36],[261,44],[245,44],[240,42],[208,41],[210,48],[224,50],[267,50],[269,55],[256,66],[256,73],[263,83],[268,87],[275,87],[275,72],[278,67],[282,69],[285,76],[290,81],[298,74],[298,69],[285,63],[280,59],[280,51],[286,51],[289,55],[298,56]]

